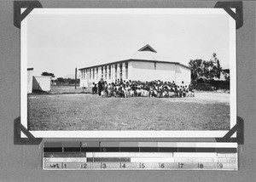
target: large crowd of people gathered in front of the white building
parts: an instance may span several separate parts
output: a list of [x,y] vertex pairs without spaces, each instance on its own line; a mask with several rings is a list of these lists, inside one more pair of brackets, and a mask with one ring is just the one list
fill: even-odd
[[118,79],[115,82],[108,83],[101,79],[98,83],[93,82],[92,94],[98,94],[102,97],[157,97],[157,98],[181,98],[194,97],[194,90],[189,88],[183,82],[177,85],[175,82],[141,82],[141,81],[123,81]]

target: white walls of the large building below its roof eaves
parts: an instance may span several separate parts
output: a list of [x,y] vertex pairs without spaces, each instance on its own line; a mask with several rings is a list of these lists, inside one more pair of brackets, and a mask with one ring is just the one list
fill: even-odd
[[[117,65],[117,71],[115,71],[115,65]],[[106,70],[107,66],[107,70]],[[81,70],[80,74],[80,87],[92,87],[93,82],[97,83],[103,77],[104,81],[115,82],[115,79],[120,79],[120,63],[111,65],[111,74],[109,77],[109,65],[98,66],[98,72],[96,67]],[[107,74],[106,74],[107,73]],[[117,74],[117,76],[116,76]],[[106,77],[107,76],[107,77]],[[191,81],[190,70],[182,65],[160,63],[160,62],[146,62],[146,61],[128,61],[128,78],[126,78],[125,62],[122,62],[122,79],[128,80],[140,80],[143,82],[160,80],[164,82],[176,82],[178,85],[184,82],[188,85]]]

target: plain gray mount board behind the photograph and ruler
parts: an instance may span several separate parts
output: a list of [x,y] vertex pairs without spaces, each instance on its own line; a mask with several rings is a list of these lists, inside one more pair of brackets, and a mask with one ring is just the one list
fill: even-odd
[[[44,8],[212,8],[217,1],[122,1],[122,3],[40,1],[40,3]],[[14,145],[13,121],[20,116],[20,29],[14,26],[13,1],[0,1],[0,181],[253,181],[256,171],[255,5],[253,1],[243,1],[243,26],[236,31],[237,115],[245,122],[245,141],[244,145],[241,145],[238,172],[45,172],[42,170],[41,145]]]

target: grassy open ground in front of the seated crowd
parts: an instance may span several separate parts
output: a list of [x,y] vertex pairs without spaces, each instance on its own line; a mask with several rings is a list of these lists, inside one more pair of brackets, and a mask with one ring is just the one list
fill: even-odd
[[224,130],[230,94],[195,98],[102,98],[91,94],[29,94],[29,130]]

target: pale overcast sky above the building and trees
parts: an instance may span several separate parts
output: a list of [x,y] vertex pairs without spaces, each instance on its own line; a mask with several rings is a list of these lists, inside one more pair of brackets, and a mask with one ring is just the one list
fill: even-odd
[[28,67],[55,77],[74,74],[84,62],[134,53],[149,44],[166,60],[188,65],[212,59],[229,68],[228,14],[30,14]]

